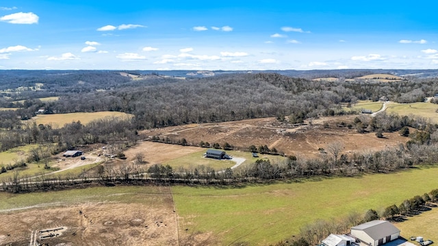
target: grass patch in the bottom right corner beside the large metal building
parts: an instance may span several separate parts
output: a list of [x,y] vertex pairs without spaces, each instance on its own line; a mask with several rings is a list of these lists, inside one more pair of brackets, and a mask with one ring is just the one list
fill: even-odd
[[424,240],[431,239],[436,243],[438,241],[438,228],[435,225],[438,225],[438,208],[407,217],[407,221],[402,223],[396,223],[396,227],[401,230],[400,234],[404,238],[422,236]]

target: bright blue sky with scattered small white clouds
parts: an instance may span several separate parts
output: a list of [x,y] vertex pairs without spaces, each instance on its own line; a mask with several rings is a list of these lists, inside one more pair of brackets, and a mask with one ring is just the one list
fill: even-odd
[[435,1],[0,1],[0,69],[438,68]]

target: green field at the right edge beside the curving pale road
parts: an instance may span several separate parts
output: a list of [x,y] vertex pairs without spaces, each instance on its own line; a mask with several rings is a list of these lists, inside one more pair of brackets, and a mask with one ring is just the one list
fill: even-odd
[[398,113],[399,115],[415,115],[430,119],[438,123],[438,105],[430,102],[414,103],[391,103],[387,105],[387,113]]

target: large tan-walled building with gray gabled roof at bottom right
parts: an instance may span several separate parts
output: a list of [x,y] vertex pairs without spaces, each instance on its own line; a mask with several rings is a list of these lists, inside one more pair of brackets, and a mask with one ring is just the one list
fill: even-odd
[[400,230],[389,221],[374,220],[351,228],[351,235],[370,246],[378,246],[396,240]]

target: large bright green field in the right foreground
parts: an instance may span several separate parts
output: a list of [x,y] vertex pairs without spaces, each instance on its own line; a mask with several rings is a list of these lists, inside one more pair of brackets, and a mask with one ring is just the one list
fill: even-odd
[[438,167],[422,167],[360,178],[248,184],[238,189],[177,186],[172,191],[179,228],[211,233],[222,238],[221,245],[269,245],[298,234],[317,219],[381,210],[437,189],[437,175]]

